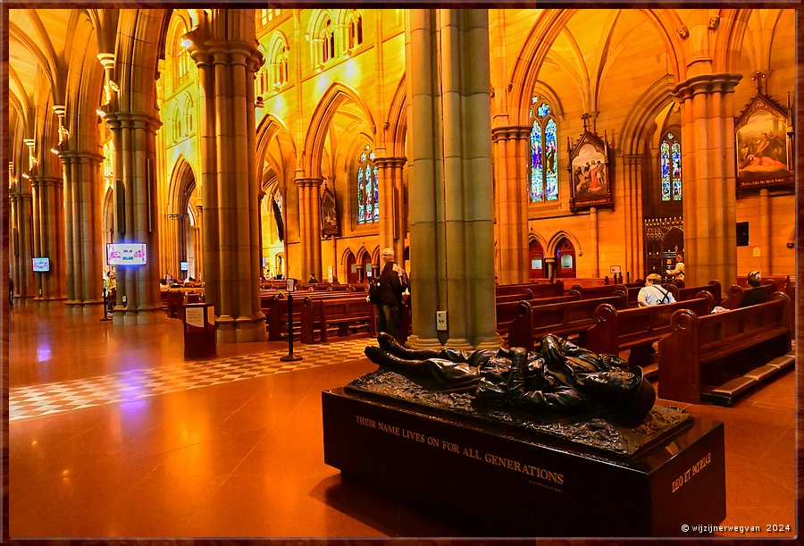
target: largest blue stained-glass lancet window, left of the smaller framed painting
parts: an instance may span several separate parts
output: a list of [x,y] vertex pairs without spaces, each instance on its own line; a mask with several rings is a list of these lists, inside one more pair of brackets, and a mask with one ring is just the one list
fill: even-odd
[[531,201],[557,201],[558,126],[552,108],[544,98],[531,98],[531,123]]

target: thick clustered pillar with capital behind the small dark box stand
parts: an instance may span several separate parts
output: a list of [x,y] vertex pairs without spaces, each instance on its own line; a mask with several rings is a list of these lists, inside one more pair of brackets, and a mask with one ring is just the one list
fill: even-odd
[[206,301],[215,307],[218,341],[264,340],[254,93],[263,56],[254,10],[199,11],[185,36],[201,87]]

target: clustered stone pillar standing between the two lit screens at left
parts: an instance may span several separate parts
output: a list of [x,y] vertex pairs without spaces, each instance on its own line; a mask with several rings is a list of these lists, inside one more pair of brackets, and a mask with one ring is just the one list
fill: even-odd
[[103,305],[100,166],[104,156],[85,151],[59,153],[63,164],[67,228],[67,306],[76,315]]

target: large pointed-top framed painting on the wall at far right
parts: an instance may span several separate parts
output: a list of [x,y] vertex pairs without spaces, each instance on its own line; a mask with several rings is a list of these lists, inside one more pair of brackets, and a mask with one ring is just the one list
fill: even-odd
[[773,98],[758,93],[751,99],[734,123],[738,194],[792,188],[790,126],[788,112]]

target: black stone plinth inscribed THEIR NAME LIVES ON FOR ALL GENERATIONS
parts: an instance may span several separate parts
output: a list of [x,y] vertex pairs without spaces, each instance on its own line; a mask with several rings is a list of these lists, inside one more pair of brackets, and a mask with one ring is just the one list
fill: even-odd
[[618,458],[342,389],[322,415],[326,464],[478,535],[685,537],[725,517],[720,422]]

